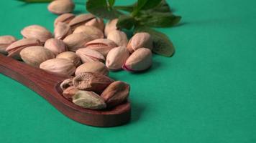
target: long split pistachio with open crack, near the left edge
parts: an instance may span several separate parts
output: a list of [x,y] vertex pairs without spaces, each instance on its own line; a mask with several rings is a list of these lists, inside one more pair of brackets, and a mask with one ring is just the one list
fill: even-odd
[[14,43],[10,44],[6,51],[8,52],[8,56],[11,56],[15,59],[20,59],[19,52],[22,51],[22,49],[28,47],[28,46],[40,46],[40,41],[37,39],[21,39],[18,41],[14,41]]

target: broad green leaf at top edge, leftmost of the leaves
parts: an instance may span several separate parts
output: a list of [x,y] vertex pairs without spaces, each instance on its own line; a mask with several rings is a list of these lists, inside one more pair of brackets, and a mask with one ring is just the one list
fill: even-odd
[[106,0],[88,0],[86,2],[86,9],[91,14],[104,19],[116,19],[122,15],[121,12],[113,9],[113,7],[109,5]]

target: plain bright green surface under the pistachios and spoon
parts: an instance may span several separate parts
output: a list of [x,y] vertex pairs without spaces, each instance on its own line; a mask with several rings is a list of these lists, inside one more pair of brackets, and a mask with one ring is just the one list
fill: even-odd
[[[0,142],[256,142],[256,1],[168,2],[183,16],[179,26],[160,29],[175,55],[155,55],[141,74],[111,73],[132,86],[129,124],[79,124],[0,74]],[[85,12],[80,3],[76,14]],[[21,38],[30,24],[52,31],[56,15],[46,7],[0,1],[0,34]]]

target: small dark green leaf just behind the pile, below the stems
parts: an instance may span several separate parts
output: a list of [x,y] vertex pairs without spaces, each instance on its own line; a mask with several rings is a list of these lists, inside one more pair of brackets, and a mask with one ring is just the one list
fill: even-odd
[[122,15],[119,16],[116,26],[124,29],[132,29],[135,24],[135,20],[132,16]]

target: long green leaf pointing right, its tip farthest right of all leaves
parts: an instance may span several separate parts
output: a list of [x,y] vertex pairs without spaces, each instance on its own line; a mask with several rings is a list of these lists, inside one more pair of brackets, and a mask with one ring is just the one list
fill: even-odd
[[170,12],[153,12],[150,14],[143,14],[144,17],[140,19],[140,24],[154,27],[170,27],[178,24],[181,16],[175,16]]

